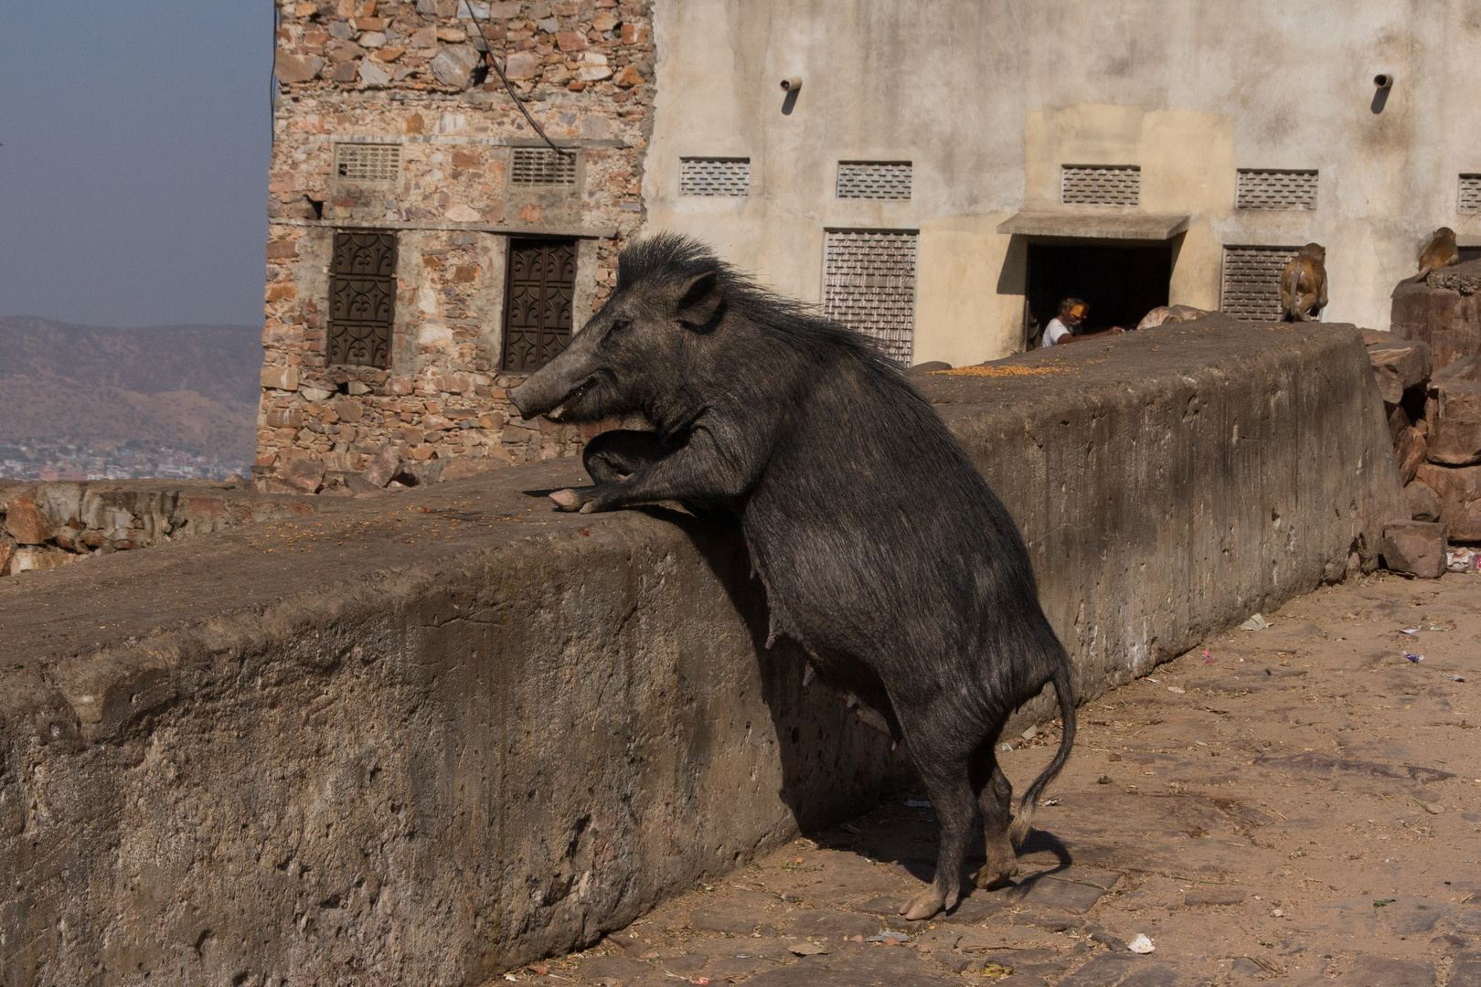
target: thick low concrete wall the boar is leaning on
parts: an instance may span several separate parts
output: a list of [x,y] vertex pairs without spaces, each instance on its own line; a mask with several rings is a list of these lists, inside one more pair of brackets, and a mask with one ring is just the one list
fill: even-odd
[[[1404,516],[1352,327],[973,370],[921,386],[1086,697]],[[0,580],[0,981],[477,984],[871,805],[900,753],[760,647],[736,533],[551,513],[572,469]]]

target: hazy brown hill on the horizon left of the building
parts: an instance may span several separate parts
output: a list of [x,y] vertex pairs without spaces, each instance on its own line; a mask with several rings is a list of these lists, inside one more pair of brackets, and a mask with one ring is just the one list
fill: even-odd
[[256,326],[70,326],[0,317],[0,442],[138,441],[249,460]]

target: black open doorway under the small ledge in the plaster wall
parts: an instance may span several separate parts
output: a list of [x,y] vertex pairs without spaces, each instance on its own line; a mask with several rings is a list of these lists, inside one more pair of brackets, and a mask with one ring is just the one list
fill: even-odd
[[1066,297],[1090,303],[1081,331],[1120,326],[1136,329],[1142,317],[1167,305],[1173,277],[1171,246],[1108,247],[1102,244],[1028,246],[1028,337],[1037,337]]

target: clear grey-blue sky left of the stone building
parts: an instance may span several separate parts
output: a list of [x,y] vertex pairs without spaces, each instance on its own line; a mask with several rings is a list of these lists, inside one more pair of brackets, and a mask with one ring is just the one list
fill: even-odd
[[0,0],[0,315],[262,323],[271,0]]

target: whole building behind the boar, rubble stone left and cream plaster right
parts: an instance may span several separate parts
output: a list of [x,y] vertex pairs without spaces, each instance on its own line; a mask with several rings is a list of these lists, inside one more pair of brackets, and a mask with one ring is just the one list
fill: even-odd
[[[625,237],[678,229],[902,363],[952,364],[1016,352],[1065,294],[1091,329],[1158,303],[1269,317],[1308,241],[1327,247],[1324,317],[1386,329],[1432,229],[1481,243],[1481,9],[1462,0],[493,3],[481,30],[569,166],[533,164],[548,148],[492,74],[438,74],[484,4],[283,12],[270,472],[273,454],[355,469],[384,441],[575,451],[505,419],[504,383],[564,339],[509,321],[515,241],[569,244],[570,327]],[[342,191],[392,152],[390,185]],[[332,255],[372,229],[395,238],[394,312],[381,366],[351,370]],[[350,441],[314,410],[344,429],[351,405]]]

